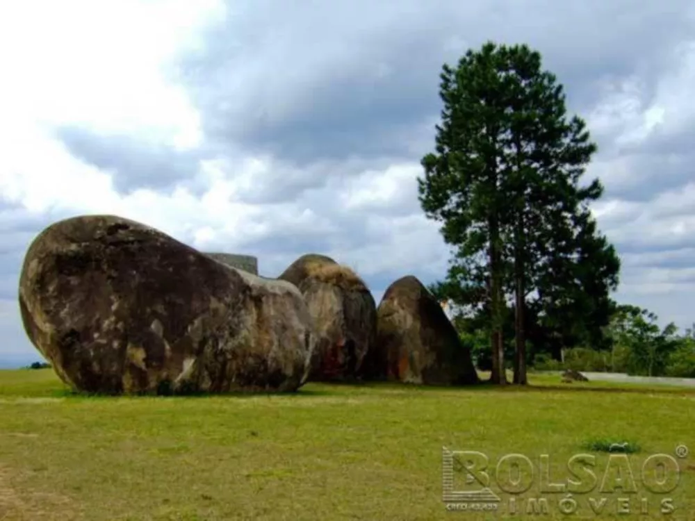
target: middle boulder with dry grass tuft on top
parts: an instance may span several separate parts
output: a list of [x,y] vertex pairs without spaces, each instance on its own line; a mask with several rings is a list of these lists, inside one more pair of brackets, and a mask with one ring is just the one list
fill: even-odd
[[317,254],[304,255],[279,279],[300,289],[313,318],[316,347],[309,379],[354,379],[374,345],[377,310],[365,283],[349,267]]

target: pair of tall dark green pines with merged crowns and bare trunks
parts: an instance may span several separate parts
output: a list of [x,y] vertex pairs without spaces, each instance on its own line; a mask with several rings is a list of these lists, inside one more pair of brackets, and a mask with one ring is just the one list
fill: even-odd
[[562,85],[525,45],[487,42],[457,68],[444,65],[440,97],[436,149],[418,180],[426,215],[455,249],[440,289],[489,308],[495,383],[506,382],[502,325],[512,295],[514,381],[526,383],[528,295],[552,297],[576,284],[582,247],[600,241],[588,204],[603,188],[598,180],[579,185],[596,145],[582,119],[566,116]]

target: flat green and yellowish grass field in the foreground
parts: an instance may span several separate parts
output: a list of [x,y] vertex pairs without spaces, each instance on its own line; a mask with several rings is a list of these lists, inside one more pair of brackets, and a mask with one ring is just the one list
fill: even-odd
[[[530,382],[107,398],[70,395],[51,370],[0,371],[0,520],[695,520],[692,454],[677,458],[670,515],[639,482],[649,455],[695,450],[695,390]],[[596,440],[640,447],[628,456],[637,493],[605,494],[599,515],[588,501],[601,497],[603,452],[599,485],[573,497],[574,515],[558,509],[564,494],[541,493],[538,472],[516,498],[522,514],[509,514],[512,495],[494,481],[497,514],[447,511],[442,501],[443,446],[483,452],[492,468],[508,453],[536,466],[548,454],[551,479],[566,481],[569,458]],[[548,514],[524,515],[530,497],[546,498]],[[630,514],[618,513],[619,497],[631,498]]]

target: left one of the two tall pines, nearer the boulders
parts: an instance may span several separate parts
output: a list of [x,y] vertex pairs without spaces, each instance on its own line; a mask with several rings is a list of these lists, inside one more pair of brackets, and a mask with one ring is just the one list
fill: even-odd
[[[506,129],[502,94],[503,56],[494,44],[468,51],[457,69],[444,65],[440,97],[444,108],[436,126],[436,153],[422,164],[420,202],[428,217],[443,222],[445,242],[456,249],[452,267],[459,276],[484,279],[491,309],[491,380],[504,383],[502,352],[502,182],[499,160]],[[484,257],[484,261],[482,258]],[[482,263],[481,263],[482,261]]]

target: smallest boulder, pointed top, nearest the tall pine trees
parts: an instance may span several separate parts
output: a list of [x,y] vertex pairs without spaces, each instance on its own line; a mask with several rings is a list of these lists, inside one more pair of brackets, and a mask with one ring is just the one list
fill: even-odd
[[398,279],[384,293],[377,308],[376,346],[365,365],[369,379],[435,386],[478,381],[471,352],[414,276]]

